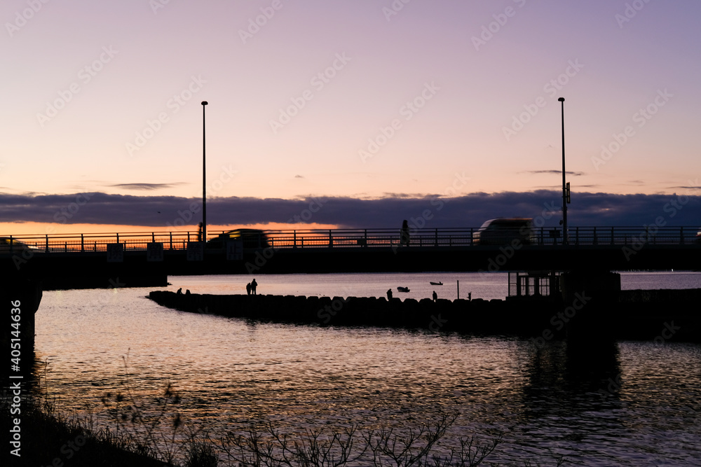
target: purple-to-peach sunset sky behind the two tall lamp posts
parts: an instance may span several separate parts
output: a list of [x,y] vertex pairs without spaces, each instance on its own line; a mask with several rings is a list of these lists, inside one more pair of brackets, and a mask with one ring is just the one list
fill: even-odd
[[[203,100],[212,200],[557,203],[558,97],[572,216],[577,193],[700,193],[695,0],[5,0],[0,18],[4,233],[168,228],[202,193]],[[139,220],[55,215],[80,193]],[[287,216],[232,206],[219,225]]]

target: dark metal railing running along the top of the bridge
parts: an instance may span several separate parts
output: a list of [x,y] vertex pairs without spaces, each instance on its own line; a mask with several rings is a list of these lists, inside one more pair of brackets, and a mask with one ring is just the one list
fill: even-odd
[[[402,235],[395,229],[330,229],[330,230],[264,230],[255,242],[259,247],[286,248],[372,248],[387,246],[472,246],[478,228],[409,229]],[[570,245],[684,245],[701,244],[695,227],[580,227],[569,228],[566,241]],[[208,240],[224,233],[213,230]],[[250,234],[249,234],[250,235]],[[519,237],[515,235],[515,237]],[[408,244],[407,241],[408,240]],[[198,232],[125,232],[55,235],[0,236],[0,253],[25,248],[41,253],[107,251],[108,244],[122,244],[125,251],[146,250],[152,242],[163,243],[163,249],[184,250],[189,242],[198,241]],[[266,244],[267,243],[267,244]],[[525,243],[525,242],[524,242]],[[562,228],[535,228],[531,244],[562,245]]]

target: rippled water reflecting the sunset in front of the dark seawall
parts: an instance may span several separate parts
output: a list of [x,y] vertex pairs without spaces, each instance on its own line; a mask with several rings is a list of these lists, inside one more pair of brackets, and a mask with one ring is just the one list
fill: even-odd
[[170,382],[188,423],[215,437],[266,421],[289,431],[406,430],[460,412],[447,445],[503,433],[492,461],[552,465],[545,459],[565,454],[575,465],[692,466],[701,458],[695,345],[539,349],[510,337],[256,323],[163,309],[147,292],[44,295],[36,353],[50,359],[61,410],[87,403],[107,423],[104,393],[129,387],[150,400]]

